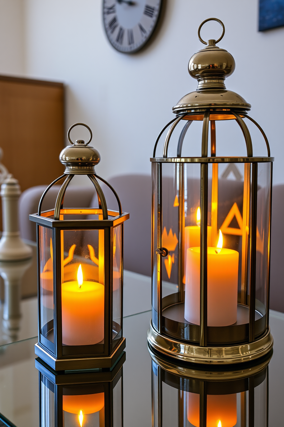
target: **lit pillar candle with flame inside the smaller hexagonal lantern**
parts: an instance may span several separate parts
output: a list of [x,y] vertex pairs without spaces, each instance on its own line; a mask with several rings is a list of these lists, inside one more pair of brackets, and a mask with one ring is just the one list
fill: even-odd
[[104,336],[104,286],[83,281],[78,268],[77,281],[61,285],[62,342],[65,345],[92,345]]

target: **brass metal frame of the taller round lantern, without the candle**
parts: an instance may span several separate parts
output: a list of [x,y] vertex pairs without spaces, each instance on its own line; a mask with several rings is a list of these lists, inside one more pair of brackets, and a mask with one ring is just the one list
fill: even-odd
[[[209,20],[220,20],[210,18]],[[201,26],[207,22],[205,20]],[[224,24],[223,27],[224,35]],[[200,38],[200,28],[198,36]],[[220,40],[221,40],[220,38]],[[200,40],[205,43],[201,38]],[[206,43],[205,43],[206,44]],[[271,194],[272,194],[272,162],[267,137],[251,117],[250,110],[243,98],[224,85],[224,79],[231,74],[235,67],[232,56],[224,49],[215,46],[215,40],[207,42],[207,48],[198,51],[189,61],[189,73],[198,79],[199,85],[195,92],[186,95],[178,105],[173,107],[176,117],[162,129],[155,142],[152,162],[152,295],[156,292],[157,310],[152,301],[152,321],[148,331],[148,342],[155,350],[164,355],[197,363],[230,364],[253,360],[268,353],[273,346],[273,338],[269,328],[269,276],[270,276],[270,228],[271,228]],[[222,52],[221,52],[222,51]],[[217,52],[217,53],[216,53]],[[220,53],[221,52],[221,53]],[[218,55],[224,64],[224,75],[220,74],[223,64],[218,64]],[[217,59],[215,56],[217,55]],[[225,58],[225,59],[224,59]],[[204,62],[203,62],[204,61]],[[199,65],[196,65],[199,64]],[[201,64],[201,65],[200,65]],[[213,64],[213,65],[211,65]],[[218,70],[219,67],[219,70]],[[214,69],[216,68],[216,69]],[[200,75],[197,73],[200,71]],[[227,71],[226,71],[227,70]],[[226,72],[225,72],[226,71]],[[196,73],[196,74],[195,74]],[[203,74],[202,74],[203,73]],[[204,74],[205,73],[205,74]],[[219,74],[218,74],[219,73]],[[226,75],[227,73],[227,75]],[[223,97],[223,99],[221,97]],[[196,98],[198,100],[196,100]],[[253,157],[250,132],[244,121],[247,118],[259,129],[267,147],[267,157]],[[175,127],[181,120],[185,120],[176,149],[176,156],[168,156],[169,142]],[[203,121],[201,138],[201,157],[182,157],[184,137],[194,120]],[[216,157],[216,120],[235,120],[240,126],[247,146],[246,157]],[[210,125],[209,125],[210,123]],[[171,126],[170,126],[171,125]],[[156,157],[158,142],[167,129],[163,157]],[[211,147],[208,147],[209,129],[211,133]],[[210,156],[208,156],[208,148]],[[242,262],[244,283],[241,289],[241,301],[249,309],[249,322],[242,325],[227,327],[207,326],[207,220],[208,220],[208,166],[209,164],[244,164],[244,203],[247,205],[247,226],[249,234],[243,235],[243,252],[246,259]],[[268,277],[267,277],[267,307],[261,319],[255,320],[256,310],[262,307],[255,306],[256,286],[256,238],[257,238],[257,192],[258,192],[258,164],[270,164],[270,206],[269,206],[269,237],[268,237]],[[178,164],[178,292],[162,298],[162,257],[169,253],[162,243],[162,165]],[[201,237],[200,237],[200,326],[189,322],[168,320],[163,316],[163,310],[184,302],[184,165],[200,164],[200,208],[201,208]],[[244,228],[245,229],[245,228]],[[156,233],[156,237],[155,237]],[[248,250],[250,246],[250,251]],[[250,255],[250,259],[248,256]],[[242,255],[243,256],[243,255]],[[154,276],[155,275],[155,276]],[[248,298],[248,293],[249,297]],[[152,298],[154,298],[152,296]],[[257,303],[258,304],[258,303]],[[261,306],[261,304],[260,304]],[[265,307],[264,307],[265,308]]]

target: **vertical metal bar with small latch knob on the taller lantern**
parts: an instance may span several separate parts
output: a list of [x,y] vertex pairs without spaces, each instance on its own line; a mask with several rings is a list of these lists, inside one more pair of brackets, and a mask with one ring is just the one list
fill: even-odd
[[[157,167],[157,248],[162,247],[162,164]],[[162,329],[162,261],[161,255],[157,254],[157,312],[158,312],[158,332]]]

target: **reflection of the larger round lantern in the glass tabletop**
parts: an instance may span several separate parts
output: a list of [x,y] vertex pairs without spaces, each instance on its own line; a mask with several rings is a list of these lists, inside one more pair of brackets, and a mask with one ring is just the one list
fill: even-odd
[[152,427],[267,427],[268,363],[237,369],[193,369],[152,357]]

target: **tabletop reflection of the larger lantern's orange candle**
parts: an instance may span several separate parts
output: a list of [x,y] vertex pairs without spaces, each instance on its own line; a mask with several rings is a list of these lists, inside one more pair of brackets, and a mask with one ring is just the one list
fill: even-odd
[[[187,393],[187,419],[199,427],[199,395]],[[237,424],[237,395],[207,395],[207,427],[233,427]]]

